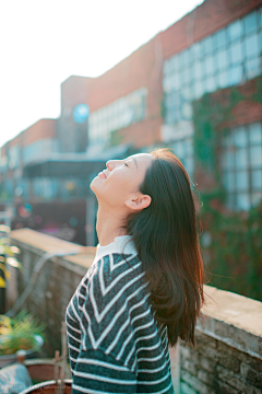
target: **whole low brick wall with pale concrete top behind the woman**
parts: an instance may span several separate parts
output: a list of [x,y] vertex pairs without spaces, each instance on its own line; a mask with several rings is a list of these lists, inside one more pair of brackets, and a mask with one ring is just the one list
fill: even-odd
[[[11,242],[21,248],[23,270],[11,268],[8,308],[29,281],[45,252],[76,251],[51,257],[43,266],[23,308],[46,323],[44,355],[60,349],[60,326],[66,308],[91,266],[95,248],[61,241],[29,229],[14,230]],[[195,347],[179,344],[170,349],[176,394],[259,394],[262,392],[262,303],[205,286],[206,304],[195,331]]]

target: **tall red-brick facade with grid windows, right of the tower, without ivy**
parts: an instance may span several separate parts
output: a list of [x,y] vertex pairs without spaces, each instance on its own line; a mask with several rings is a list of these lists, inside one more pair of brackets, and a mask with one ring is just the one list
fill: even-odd
[[[261,4],[206,0],[93,79],[87,94],[90,149],[96,143],[124,142],[143,151],[169,147],[200,187],[214,187],[215,181],[201,171],[195,155],[195,103],[234,90],[253,89],[253,95],[260,94]],[[218,138],[218,171],[227,208],[248,210],[261,200],[261,99],[242,95],[231,112],[234,119],[228,121],[224,116],[215,128],[217,134],[228,129],[224,139]]]

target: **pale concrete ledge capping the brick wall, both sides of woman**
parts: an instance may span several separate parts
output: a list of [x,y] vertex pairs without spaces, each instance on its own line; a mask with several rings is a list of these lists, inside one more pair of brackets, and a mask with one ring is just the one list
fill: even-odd
[[[95,247],[73,244],[31,229],[11,231],[9,236],[21,248],[39,256],[45,252],[79,250],[74,256],[52,257],[50,260],[80,276],[91,267],[95,257]],[[204,292],[205,305],[196,329],[262,360],[262,303],[211,286],[204,286]]]

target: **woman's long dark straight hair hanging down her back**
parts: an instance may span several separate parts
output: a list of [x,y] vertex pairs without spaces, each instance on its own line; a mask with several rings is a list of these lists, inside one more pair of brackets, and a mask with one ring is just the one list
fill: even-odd
[[151,205],[128,219],[128,233],[150,281],[158,323],[167,326],[168,344],[178,337],[194,344],[194,327],[204,302],[203,260],[190,178],[167,149],[151,153],[152,165],[140,186]]

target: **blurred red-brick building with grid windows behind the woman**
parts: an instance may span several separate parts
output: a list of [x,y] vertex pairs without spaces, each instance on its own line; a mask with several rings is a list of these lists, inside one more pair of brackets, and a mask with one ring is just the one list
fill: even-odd
[[[261,0],[206,0],[103,76],[70,77],[61,116],[1,148],[13,228],[94,245],[90,181],[106,160],[157,147],[181,159],[204,208],[247,217],[262,196],[261,74]],[[214,236],[203,233],[206,260]]]

